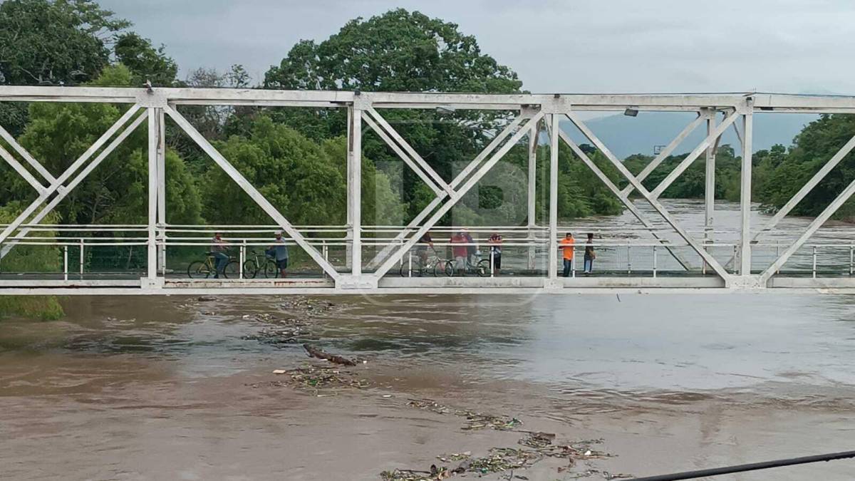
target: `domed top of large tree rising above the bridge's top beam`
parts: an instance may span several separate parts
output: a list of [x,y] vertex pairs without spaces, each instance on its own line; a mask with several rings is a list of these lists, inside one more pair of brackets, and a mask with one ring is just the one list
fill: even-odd
[[457,24],[395,9],[351,20],[320,44],[303,40],[264,86],[365,92],[517,92],[516,73],[481,53]]

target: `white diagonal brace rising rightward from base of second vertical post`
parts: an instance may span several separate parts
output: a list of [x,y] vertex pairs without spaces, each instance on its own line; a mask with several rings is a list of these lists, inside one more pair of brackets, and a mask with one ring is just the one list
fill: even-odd
[[[388,272],[390,269],[392,269],[392,266],[395,263],[397,263],[398,260],[403,258],[404,254],[406,252],[408,252],[412,248],[412,246],[416,245],[416,242],[418,242],[419,239],[422,238],[422,235],[424,235],[426,232],[428,232],[428,229],[431,229],[437,222],[439,222],[439,219],[442,218],[443,216],[445,216],[445,214],[448,211],[451,211],[451,207],[454,207],[454,205],[457,204],[458,200],[462,199],[463,196],[466,195],[466,193],[468,193],[469,190],[472,187],[474,187],[475,184],[478,183],[478,181],[481,181],[481,177],[486,175],[486,173],[489,172],[490,169],[492,169],[492,167],[494,165],[496,165],[496,163],[498,163],[498,161],[501,160],[502,157],[504,157],[504,155],[506,153],[508,153],[508,151],[510,151],[510,148],[513,145],[515,145],[517,142],[519,142],[523,136],[530,134],[532,128],[534,128],[534,126],[537,125],[537,122],[540,122],[540,119],[543,118],[543,116],[544,116],[544,112],[542,110],[540,110],[539,112],[535,113],[534,116],[529,118],[528,122],[526,122],[526,124],[522,128],[517,130],[516,134],[513,134],[513,136],[510,137],[510,140],[505,142],[504,145],[502,145],[498,149],[498,151],[496,151],[494,154],[492,154],[492,157],[490,157],[486,161],[486,163],[481,165],[481,167],[475,171],[474,175],[469,177],[469,180],[467,180],[465,183],[463,183],[463,186],[461,186],[460,188],[458,188],[457,190],[454,191],[455,196],[451,197],[451,199],[449,199],[448,202],[441,205],[439,207],[439,210],[434,212],[433,216],[431,216],[426,223],[422,224],[422,226],[418,230],[416,230],[416,234],[412,235],[409,240],[404,242],[404,245],[401,246],[400,248],[398,248],[398,251],[392,253],[392,255],[389,258],[386,258],[386,261],[383,262],[383,264],[380,264],[380,267],[377,268],[376,271],[374,271],[374,276],[377,279],[380,279],[382,276],[385,276],[386,272]],[[493,144],[491,143],[491,145],[493,145]],[[491,145],[488,145],[484,149],[484,151],[489,152]],[[483,153],[483,151],[482,151],[482,153]],[[479,157],[481,157],[481,156],[479,155]],[[475,160],[472,161],[472,163],[475,163],[476,161],[478,161],[478,157],[476,157]],[[460,177],[460,175],[458,175],[458,177]],[[436,201],[436,200],[437,199],[434,199],[434,201]]]

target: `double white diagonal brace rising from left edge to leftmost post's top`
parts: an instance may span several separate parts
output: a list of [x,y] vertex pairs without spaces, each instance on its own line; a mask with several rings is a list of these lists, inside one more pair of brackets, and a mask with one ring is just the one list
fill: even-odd
[[[47,199],[49,199],[50,195],[52,195],[53,193],[57,193],[56,196],[50,200],[50,203],[48,203],[48,205],[46,205],[44,209],[39,211],[36,216],[32,217],[30,223],[40,223],[42,219],[44,219],[44,217],[47,216],[50,211],[52,211],[56,207],[56,205],[59,205],[62,199],[65,199],[68,193],[74,189],[74,187],[77,187],[77,185],[81,181],[83,181],[86,176],[89,175],[91,171],[94,170],[98,166],[98,164],[103,161],[103,159],[107,158],[107,156],[115,149],[116,146],[121,144],[121,142],[124,141],[127,136],[130,135],[133,130],[136,129],[139,124],[145,120],[146,115],[144,113],[138,116],[137,119],[134,120],[129,126],[127,126],[127,128],[125,128],[125,130],[122,131],[121,134],[119,134],[112,142],[110,142],[109,145],[107,145],[107,147],[104,148],[103,151],[101,151],[97,155],[97,157],[92,160],[91,163],[86,165],[85,168],[81,170],[80,173],[76,175],[71,182],[68,183],[68,186],[63,186],[65,181],[68,181],[68,178],[74,175],[74,173],[77,172],[78,169],[80,169],[80,166],[82,166],[87,160],[89,160],[89,157],[94,155],[95,152],[98,151],[98,149],[100,149],[111,137],[113,137],[113,135],[120,128],[122,128],[122,126],[124,126],[127,121],[139,111],[139,109],[140,107],[138,104],[134,104],[130,109],[128,109],[119,118],[119,120],[115,121],[115,123],[113,123],[113,125],[110,126],[110,128],[108,128],[107,131],[104,132],[101,137],[98,138],[98,140],[96,140],[92,145],[90,145],[89,148],[86,149],[86,151],[83,152],[83,154],[80,155],[80,157],[78,157],[77,160],[74,161],[74,163],[69,165],[68,169],[65,169],[65,171],[62,172],[62,174],[57,177],[55,181],[51,182],[50,186],[45,188],[44,192],[41,193],[37,199],[33,200],[30,205],[27,205],[27,208],[24,209],[24,211],[22,211],[18,217],[15,217],[15,220],[9,223],[9,226],[7,226],[6,229],[3,229],[3,232],[0,232],[0,244],[3,244],[3,241],[9,238],[9,235],[12,235],[12,233],[15,232],[16,229],[21,227],[21,224],[27,221],[27,218],[32,216],[32,213],[35,212],[39,206],[43,205],[44,202],[47,201]],[[27,234],[29,234],[30,230],[31,229],[21,229],[19,237],[26,236]],[[16,241],[6,243],[3,246],[3,249],[0,250],[0,258],[5,257],[6,254],[9,253],[9,251],[12,249],[12,247],[15,246],[16,243]]]

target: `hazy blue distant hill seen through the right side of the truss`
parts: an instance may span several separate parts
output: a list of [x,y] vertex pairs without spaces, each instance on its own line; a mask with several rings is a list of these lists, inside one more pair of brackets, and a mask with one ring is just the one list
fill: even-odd
[[[617,157],[626,158],[635,153],[652,155],[654,145],[668,145],[694,116],[690,112],[640,112],[636,117],[621,114],[591,119],[585,123]],[[790,145],[793,137],[817,118],[811,114],[754,114],[753,150],[768,149],[775,144]],[[721,122],[721,116],[718,122]],[[571,122],[562,122],[561,128],[576,142],[587,143],[587,139]],[[706,124],[702,123],[677,147],[675,153],[692,151],[704,140],[705,134]],[[728,128],[721,143],[733,145],[739,151],[739,140],[733,128]]]

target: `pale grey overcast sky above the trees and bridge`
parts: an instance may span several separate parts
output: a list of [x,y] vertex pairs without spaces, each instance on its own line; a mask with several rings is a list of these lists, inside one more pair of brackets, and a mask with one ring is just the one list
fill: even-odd
[[532,92],[855,94],[852,0],[100,0],[167,46],[182,77],[256,80],[299,39],[403,6],[459,24]]

